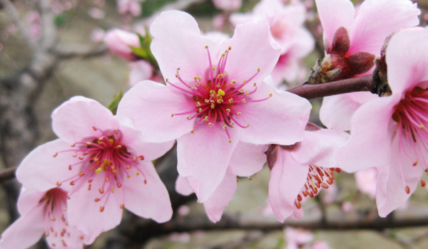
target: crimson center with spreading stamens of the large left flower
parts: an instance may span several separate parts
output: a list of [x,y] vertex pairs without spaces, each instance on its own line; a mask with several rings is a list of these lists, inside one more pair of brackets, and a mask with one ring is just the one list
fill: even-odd
[[[145,184],[147,180],[143,171],[138,168],[137,163],[137,159],[143,160],[144,157],[142,155],[136,157],[128,152],[126,146],[121,144],[122,134],[120,130],[114,130],[112,135],[108,135],[96,127],[93,127],[93,130],[98,130],[101,133],[101,137],[93,139],[92,142],[76,142],[71,144],[73,149],[63,151],[73,152],[72,157],[78,159],[75,164],[69,165],[68,169],[71,170],[74,166],[81,166],[81,171],[69,179],[58,181],[56,185],[61,186],[63,182],[70,181],[70,185],[76,185],[71,193],[81,189],[85,184],[88,185],[88,191],[91,191],[93,180],[96,177],[103,177],[103,185],[98,189],[100,196],[95,198],[96,202],[103,200],[104,204],[100,207],[102,212],[110,194],[113,194],[116,188],[121,188],[123,177],[131,177],[129,174],[131,168],[136,169],[137,176],[143,175]],[[58,152],[54,154],[54,157],[57,155]],[[123,203],[121,208],[124,208]]]

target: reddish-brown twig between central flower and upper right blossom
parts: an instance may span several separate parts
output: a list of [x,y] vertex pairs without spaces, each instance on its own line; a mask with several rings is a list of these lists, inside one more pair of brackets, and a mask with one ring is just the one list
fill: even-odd
[[326,97],[349,92],[364,92],[370,90],[372,90],[372,75],[337,80],[330,83],[301,84],[287,91],[310,100],[317,97]]

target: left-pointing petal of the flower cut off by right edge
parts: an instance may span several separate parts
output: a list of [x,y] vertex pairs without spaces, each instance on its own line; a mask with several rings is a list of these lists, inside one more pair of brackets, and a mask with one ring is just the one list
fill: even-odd
[[392,112],[398,101],[394,96],[381,97],[367,102],[355,112],[350,139],[337,152],[337,164],[341,169],[355,172],[389,164],[395,123]]

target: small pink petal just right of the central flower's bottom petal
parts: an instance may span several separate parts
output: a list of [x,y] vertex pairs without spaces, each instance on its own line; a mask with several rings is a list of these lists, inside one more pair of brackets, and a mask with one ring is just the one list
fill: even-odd
[[229,205],[229,202],[235,195],[236,187],[236,176],[233,174],[226,174],[213,196],[203,203],[205,212],[210,221],[213,221],[213,223],[220,221],[223,210]]

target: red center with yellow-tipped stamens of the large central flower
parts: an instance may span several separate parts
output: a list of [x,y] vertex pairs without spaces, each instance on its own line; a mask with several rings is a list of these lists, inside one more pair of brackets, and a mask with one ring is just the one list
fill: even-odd
[[253,83],[254,90],[247,92],[245,92],[244,86],[253,80],[258,73],[260,73],[260,68],[258,68],[257,72],[248,78],[248,80],[243,80],[243,83],[237,83],[236,80],[230,80],[228,73],[225,72],[228,55],[232,48],[229,47],[228,50],[221,54],[217,67],[213,66],[208,46],[205,46],[205,48],[207,49],[209,63],[209,73],[206,79],[202,78],[202,76],[195,76],[193,78],[194,82],[186,83],[185,80],[180,77],[180,68],[177,68],[175,78],[177,78],[185,88],[170,83],[168,79],[165,79],[166,83],[169,83],[174,88],[177,88],[188,95],[192,95],[193,100],[195,100],[195,106],[191,107],[191,110],[187,112],[173,113],[171,117],[174,117],[175,115],[186,115],[188,120],[195,120],[193,129],[190,131],[192,133],[195,132],[196,127],[198,127],[198,125],[203,121],[210,127],[214,124],[220,124],[223,129],[225,129],[230,143],[232,140],[230,139],[228,127],[233,128],[235,124],[241,128],[247,128],[250,126],[250,124],[240,124],[234,117],[235,115],[242,114],[240,112],[240,105],[243,105],[246,102],[260,102],[267,100],[269,97],[272,97],[272,93],[270,93],[269,97],[266,97],[263,100],[253,100],[251,95],[257,91],[257,84]]

